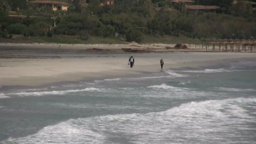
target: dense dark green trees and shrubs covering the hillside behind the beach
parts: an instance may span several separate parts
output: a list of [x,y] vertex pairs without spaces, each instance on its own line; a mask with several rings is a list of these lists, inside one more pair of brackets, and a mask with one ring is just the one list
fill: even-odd
[[[71,0],[55,0],[70,3]],[[143,35],[187,36],[207,39],[255,39],[256,8],[238,0],[195,0],[195,4],[216,5],[222,12],[189,11],[184,3],[171,0],[115,0],[114,5],[99,6],[101,0],[73,0],[69,11],[38,8],[26,0],[0,0],[0,36],[77,35],[123,36],[141,42]],[[9,11],[19,11],[9,17]],[[40,18],[33,18],[39,16]]]

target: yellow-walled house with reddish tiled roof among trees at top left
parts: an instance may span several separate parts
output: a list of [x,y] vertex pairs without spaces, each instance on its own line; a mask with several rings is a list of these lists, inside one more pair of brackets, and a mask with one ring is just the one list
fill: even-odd
[[59,2],[59,1],[51,1],[51,0],[35,0],[35,1],[28,1],[29,4],[35,4],[38,8],[43,6],[49,6],[52,8],[53,11],[62,10],[67,11],[69,3]]

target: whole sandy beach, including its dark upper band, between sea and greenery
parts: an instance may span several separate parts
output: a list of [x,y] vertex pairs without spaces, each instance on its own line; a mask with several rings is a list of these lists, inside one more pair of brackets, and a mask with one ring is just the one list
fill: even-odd
[[[163,50],[167,45],[0,44],[0,87],[122,77],[183,67],[221,65],[254,59],[254,52],[202,52],[202,49]],[[143,52],[124,52],[123,49]],[[135,59],[134,68],[127,64]]]

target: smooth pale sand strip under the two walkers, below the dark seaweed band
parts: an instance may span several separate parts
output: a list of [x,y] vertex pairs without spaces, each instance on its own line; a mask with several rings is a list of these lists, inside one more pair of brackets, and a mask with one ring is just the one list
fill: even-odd
[[[9,44],[10,45],[10,44]],[[31,45],[31,44],[29,44]],[[13,46],[13,45],[12,45]],[[37,45],[31,45],[37,47]],[[26,47],[26,46],[24,46]],[[73,46],[75,47],[75,46]],[[76,47],[78,49],[80,46]],[[94,46],[92,46],[94,47]],[[95,46],[96,47],[96,46]],[[111,46],[108,46],[111,47]],[[6,48],[5,45],[0,46]],[[27,47],[26,47],[27,48]],[[24,49],[25,51],[26,49]],[[23,52],[24,52],[23,51]],[[6,50],[5,50],[6,52]],[[13,52],[13,51],[12,51]],[[28,55],[31,49],[27,51]],[[35,52],[35,51],[33,51]],[[256,53],[236,52],[175,52],[175,53],[101,53],[85,57],[61,58],[12,58],[6,59],[0,51],[0,87],[3,85],[39,86],[63,81],[78,81],[85,78],[124,76],[160,72],[159,60],[164,60],[164,70],[180,67],[217,65],[225,60],[255,58]],[[11,52],[10,52],[11,53]],[[25,51],[26,53],[26,51]],[[17,53],[18,54],[18,53]],[[33,54],[35,56],[35,54]],[[38,53],[39,55],[39,53]],[[54,54],[52,54],[54,55]],[[13,56],[13,55],[12,55]],[[134,68],[127,65],[134,56]],[[216,61],[222,60],[222,61]]]

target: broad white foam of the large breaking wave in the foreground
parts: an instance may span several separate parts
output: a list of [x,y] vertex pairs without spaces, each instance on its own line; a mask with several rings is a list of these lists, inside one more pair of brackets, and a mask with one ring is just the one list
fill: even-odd
[[215,137],[230,139],[237,129],[249,130],[250,128],[241,127],[244,123],[255,122],[255,118],[248,115],[243,108],[248,103],[256,104],[256,98],[192,101],[160,112],[71,119],[44,127],[33,135],[9,138],[5,142],[105,144],[113,143],[109,141],[111,135],[122,137],[124,134],[126,138],[132,136],[129,143],[163,144],[164,139],[178,144],[182,140],[188,141],[192,138],[195,142],[206,143]]

